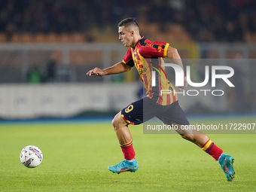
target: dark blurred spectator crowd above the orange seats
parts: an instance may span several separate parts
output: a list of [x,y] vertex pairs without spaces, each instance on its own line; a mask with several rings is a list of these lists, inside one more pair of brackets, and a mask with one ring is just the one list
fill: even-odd
[[[125,17],[138,22],[181,24],[195,41],[244,41],[256,32],[255,0],[1,0],[0,32],[90,32]],[[116,32],[116,31],[114,31]]]

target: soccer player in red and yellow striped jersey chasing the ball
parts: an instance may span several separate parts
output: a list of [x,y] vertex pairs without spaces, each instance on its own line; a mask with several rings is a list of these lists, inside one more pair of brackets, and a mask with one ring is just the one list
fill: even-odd
[[[135,159],[133,149],[133,139],[128,128],[129,124],[138,125],[153,117],[157,117],[163,123],[178,126],[177,133],[183,139],[187,139],[200,147],[207,154],[211,155],[221,165],[227,181],[234,178],[233,157],[222,154],[221,148],[218,148],[205,134],[197,130],[181,130],[181,125],[189,126],[184,111],[178,104],[178,96],[175,88],[166,78],[164,67],[162,66],[163,57],[171,59],[176,65],[183,69],[181,57],[178,51],[170,47],[166,42],[149,41],[139,33],[139,26],[133,18],[126,18],[118,24],[119,39],[124,46],[129,47],[123,61],[107,69],[95,68],[87,72],[87,75],[113,75],[130,71],[133,66],[139,72],[145,85],[146,97],[140,99],[123,108],[112,120],[114,131],[123,151],[124,160],[114,166],[108,166],[108,169],[114,173],[136,172],[138,163]],[[183,69],[184,70],[184,69]],[[152,85],[152,74],[156,79],[156,86]],[[187,87],[187,78],[184,76],[184,87],[178,87],[182,90]],[[161,94],[161,90],[169,90],[169,94]]]

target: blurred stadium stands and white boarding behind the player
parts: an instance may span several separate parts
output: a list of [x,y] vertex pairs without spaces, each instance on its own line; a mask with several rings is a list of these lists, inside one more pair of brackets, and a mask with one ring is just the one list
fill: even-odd
[[[2,0],[0,118],[111,116],[139,99],[136,69],[86,75],[123,59],[117,23],[126,17],[135,17],[151,41],[177,48],[184,61],[236,62],[236,89],[223,87],[221,101],[180,96],[187,114],[254,114],[255,10],[254,0]],[[202,73],[194,62],[194,80],[202,82]]]

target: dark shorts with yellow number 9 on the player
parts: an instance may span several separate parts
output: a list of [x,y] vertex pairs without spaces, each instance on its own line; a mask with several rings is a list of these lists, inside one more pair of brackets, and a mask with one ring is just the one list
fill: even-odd
[[189,125],[184,111],[178,105],[178,101],[171,105],[160,105],[145,97],[123,108],[121,114],[127,123],[133,125],[139,125],[153,117],[157,117],[168,125],[172,125],[172,123]]

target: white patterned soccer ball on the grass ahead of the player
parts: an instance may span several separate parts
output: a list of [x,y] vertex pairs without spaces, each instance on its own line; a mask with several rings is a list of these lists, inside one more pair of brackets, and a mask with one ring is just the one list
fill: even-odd
[[34,145],[28,145],[20,152],[20,161],[23,166],[35,168],[40,165],[42,160],[43,154],[41,150]]

